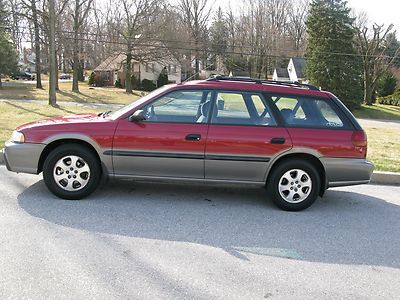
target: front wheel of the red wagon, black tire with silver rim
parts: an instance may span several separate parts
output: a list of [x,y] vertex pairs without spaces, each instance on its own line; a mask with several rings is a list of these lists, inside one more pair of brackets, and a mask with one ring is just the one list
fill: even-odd
[[43,164],[43,179],[57,197],[79,200],[95,191],[101,167],[98,158],[86,147],[65,144],[55,148]]

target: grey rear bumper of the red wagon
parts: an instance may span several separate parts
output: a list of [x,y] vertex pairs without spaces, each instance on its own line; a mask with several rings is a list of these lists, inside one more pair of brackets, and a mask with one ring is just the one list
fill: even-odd
[[323,158],[327,187],[369,183],[374,165],[365,159]]

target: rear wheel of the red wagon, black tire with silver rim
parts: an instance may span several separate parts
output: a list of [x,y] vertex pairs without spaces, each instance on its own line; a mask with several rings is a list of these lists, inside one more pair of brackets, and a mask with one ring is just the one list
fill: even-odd
[[[288,180],[285,179],[287,176],[284,175],[287,174],[290,174],[290,178],[292,178],[292,176],[297,176],[297,174],[301,174],[301,172],[297,172],[296,170],[305,172],[305,176],[302,177],[301,181],[304,181],[304,185],[309,185],[308,180],[311,180],[311,188],[303,186],[302,182],[300,182],[300,185],[298,185],[301,186],[301,188],[298,188],[298,186],[296,186],[295,182],[297,181],[295,181],[295,179],[293,179],[291,182],[288,182]],[[321,176],[313,164],[302,159],[289,159],[279,163],[279,165],[274,167],[271,172],[272,173],[270,173],[268,177],[267,192],[271,200],[279,208],[287,211],[300,211],[310,207],[317,199],[321,188]],[[286,182],[288,182],[287,191]],[[279,191],[280,186],[282,189],[284,189],[282,191],[283,195],[281,195],[281,192]],[[296,191],[294,191],[294,188],[297,188]],[[299,192],[296,195],[297,191]],[[300,191],[301,196],[299,195]],[[291,196],[292,194],[289,193],[294,194]],[[292,202],[290,202],[288,199],[285,199],[284,196],[291,198]],[[302,197],[304,197],[304,199],[301,199]]]

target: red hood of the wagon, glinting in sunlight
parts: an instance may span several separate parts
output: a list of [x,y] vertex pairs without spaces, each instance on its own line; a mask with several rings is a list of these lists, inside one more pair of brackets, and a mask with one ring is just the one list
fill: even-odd
[[104,120],[104,118],[99,117],[96,114],[80,114],[80,115],[69,115],[63,117],[49,118],[43,119],[39,121],[30,122],[24,125],[21,125],[16,128],[16,130],[24,130],[35,127],[51,127],[53,125],[62,125],[62,124],[76,124],[76,123],[91,123],[97,122],[99,120]]

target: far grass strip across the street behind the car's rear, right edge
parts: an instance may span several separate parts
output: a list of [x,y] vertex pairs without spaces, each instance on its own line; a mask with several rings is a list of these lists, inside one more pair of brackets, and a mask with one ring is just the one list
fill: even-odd
[[362,105],[353,111],[356,118],[375,120],[400,120],[400,106],[374,104]]

